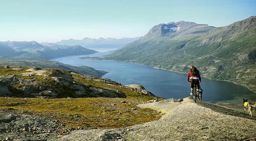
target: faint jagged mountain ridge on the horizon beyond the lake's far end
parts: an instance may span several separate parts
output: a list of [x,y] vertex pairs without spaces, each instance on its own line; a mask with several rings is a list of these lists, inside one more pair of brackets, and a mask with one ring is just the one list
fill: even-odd
[[[69,40],[61,40],[60,42],[55,42],[54,44],[59,45],[81,45],[86,48],[90,49],[97,49],[97,48],[120,48],[126,45],[127,43],[131,43],[135,40],[140,39],[141,37],[136,38],[99,38],[99,39],[92,39],[92,38],[83,38],[82,40],[76,39],[69,39]],[[48,43],[41,43],[42,45]]]

